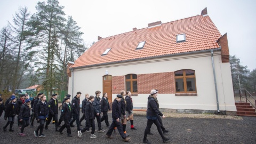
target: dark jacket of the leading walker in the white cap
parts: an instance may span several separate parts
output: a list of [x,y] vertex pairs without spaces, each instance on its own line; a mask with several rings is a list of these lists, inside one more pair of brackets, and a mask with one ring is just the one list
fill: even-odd
[[157,106],[157,101],[154,99],[154,97],[148,97],[148,109],[147,109],[147,116],[163,116],[161,111],[159,111],[159,108]]

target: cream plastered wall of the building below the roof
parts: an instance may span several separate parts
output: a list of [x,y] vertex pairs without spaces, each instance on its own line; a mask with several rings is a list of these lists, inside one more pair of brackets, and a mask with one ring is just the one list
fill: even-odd
[[[221,62],[220,52],[214,52],[213,58],[220,110],[236,111],[230,64]],[[195,70],[197,96],[175,96],[175,94],[159,93],[157,96],[160,103],[159,107],[169,109],[217,110],[210,52],[74,69],[74,93],[71,95],[75,95],[77,91],[82,92],[82,101],[85,93],[95,95],[94,92],[97,90],[102,92],[102,76],[106,75],[106,70],[108,70],[109,75],[124,76],[127,74],[165,73],[180,69]],[[71,83],[72,77],[69,78],[69,93],[72,90]],[[138,96],[133,96],[133,106],[146,108],[148,95],[138,94]],[[113,93],[112,96],[114,100],[116,93]]]

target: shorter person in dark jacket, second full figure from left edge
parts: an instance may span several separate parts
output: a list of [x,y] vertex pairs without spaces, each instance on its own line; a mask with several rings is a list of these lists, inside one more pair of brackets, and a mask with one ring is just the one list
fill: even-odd
[[30,103],[31,103],[31,100],[27,99],[20,108],[19,119],[20,119],[20,122],[22,122],[22,127],[20,130],[21,137],[26,136],[26,134],[24,133],[24,129],[25,127],[29,126],[29,117],[30,117],[30,109],[31,109]]

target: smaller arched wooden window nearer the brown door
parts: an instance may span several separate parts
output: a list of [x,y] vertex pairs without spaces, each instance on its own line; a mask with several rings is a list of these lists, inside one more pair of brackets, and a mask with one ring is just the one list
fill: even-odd
[[125,88],[126,88],[126,91],[130,91],[131,93],[138,92],[137,75],[128,74],[125,76]]

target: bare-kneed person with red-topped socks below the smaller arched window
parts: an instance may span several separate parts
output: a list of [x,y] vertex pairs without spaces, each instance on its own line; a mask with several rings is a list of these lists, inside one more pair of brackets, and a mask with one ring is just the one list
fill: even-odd
[[131,97],[132,93],[130,91],[126,92],[126,121],[130,121],[131,122],[131,130],[137,130],[136,127],[134,127],[133,125],[133,103],[132,103],[132,97]]

